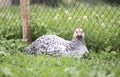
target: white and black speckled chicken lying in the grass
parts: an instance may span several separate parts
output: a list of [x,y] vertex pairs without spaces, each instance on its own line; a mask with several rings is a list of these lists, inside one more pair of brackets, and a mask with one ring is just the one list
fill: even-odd
[[56,35],[43,35],[36,39],[30,46],[25,48],[28,53],[49,55],[63,55],[69,54],[82,55],[88,52],[84,40],[84,32],[81,28],[77,28],[73,33],[71,41],[64,40]]

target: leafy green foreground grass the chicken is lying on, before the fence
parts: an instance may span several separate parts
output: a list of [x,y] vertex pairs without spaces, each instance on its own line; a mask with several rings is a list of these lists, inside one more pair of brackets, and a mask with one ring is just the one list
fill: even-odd
[[27,54],[22,52],[24,46],[22,40],[2,42],[0,77],[120,77],[120,53],[115,51],[54,57]]

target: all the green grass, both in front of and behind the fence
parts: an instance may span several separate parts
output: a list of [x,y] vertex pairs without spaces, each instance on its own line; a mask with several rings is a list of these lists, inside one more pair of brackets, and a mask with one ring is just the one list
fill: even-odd
[[23,52],[20,7],[0,7],[0,77],[120,77],[120,7],[78,4],[31,5],[30,15],[33,40],[43,34],[70,40],[82,27],[90,53],[80,59]]

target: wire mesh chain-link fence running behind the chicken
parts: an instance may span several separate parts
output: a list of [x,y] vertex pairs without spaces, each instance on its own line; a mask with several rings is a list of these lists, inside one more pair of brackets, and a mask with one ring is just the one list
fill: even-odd
[[[0,0],[1,38],[22,38],[19,0]],[[70,40],[82,27],[90,49],[120,50],[119,0],[31,0],[32,39],[56,34]]]

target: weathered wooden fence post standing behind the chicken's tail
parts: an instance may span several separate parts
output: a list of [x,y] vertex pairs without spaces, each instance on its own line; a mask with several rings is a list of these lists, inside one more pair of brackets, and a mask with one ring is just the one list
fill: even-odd
[[22,13],[22,31],[23,39],[26,43],[31,42],[30,32],[30,0],[20,0]]

